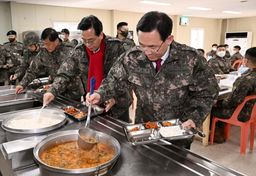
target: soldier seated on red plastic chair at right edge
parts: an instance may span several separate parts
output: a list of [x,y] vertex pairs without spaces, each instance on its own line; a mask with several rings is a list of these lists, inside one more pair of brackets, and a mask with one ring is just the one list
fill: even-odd
[[[233,84],[232,92],[228,98],[212,107],[210,130],[212,128],[212,117],[230,119],[236,110],[237,106],[240,105],[246,96],[256,95],[256,47],[249,48],[243,57],[244,65],[249,69],[242,73],[242,75],[236,78]],[[253,106],[256,99],[249,100],[244,104],[244,107],[238,115],[238,121],[247,122],[252,114]],[[226,141],[226,135],[224,132],[226,123],[216,122],[214,141],[216,143],[223,143]]]

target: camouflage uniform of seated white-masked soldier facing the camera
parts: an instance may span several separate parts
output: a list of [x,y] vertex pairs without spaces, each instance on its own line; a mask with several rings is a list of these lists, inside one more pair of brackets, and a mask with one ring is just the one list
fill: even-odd
[[234,71],[234,68],[225,56],[220,58],[220,56],[216,55],[208,60],[208,64],[212,67],[214,74],[229,74],[229,72]]

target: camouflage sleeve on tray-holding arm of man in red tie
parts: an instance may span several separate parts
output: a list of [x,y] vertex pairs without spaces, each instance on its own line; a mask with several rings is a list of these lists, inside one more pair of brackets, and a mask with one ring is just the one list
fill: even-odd
[[219,86],[212,69],[204,57],[196,63],[193,70],[194,84],[189,87],[189,107],[185,110],[184,120],[191,119],[200,126],[210,113],[212,105],[217,102]]

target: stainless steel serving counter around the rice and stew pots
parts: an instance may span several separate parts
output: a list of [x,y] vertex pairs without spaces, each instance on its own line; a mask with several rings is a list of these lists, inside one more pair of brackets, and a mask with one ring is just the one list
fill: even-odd
[[[43,93],[34,94],[42,101]],[[59,96],[49,105],[60,108],[75,101]],[[38,109],[40,107],[36,107]],[[17,112],[17,111],[16,111]],[[8,116],[0,114],[0,123]],[[68,116],[68,124],[62,128],[78,130],[84,128],[86,120],[78,121]],[[122,127],[127,123],[106,115],[92,117],[90,128],[104,132],[118,140],[121,154],[116,165],[104,176],[245,176],[222,164],[204,158],[190,150],[164,140],[159,143],[134,146],[126,142]],[[34,160],[33,148],[46,135],[7,142],[4,130],[0,130],[0,170],[3,176],[40,176],[39,166]]]

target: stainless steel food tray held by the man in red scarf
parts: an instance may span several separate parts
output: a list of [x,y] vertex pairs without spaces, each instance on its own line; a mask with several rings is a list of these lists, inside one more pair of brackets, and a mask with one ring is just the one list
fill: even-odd
[[[97,115],[99,115],[99,114],[102,114],[103,111],[105,110],[104,108],[102,108],[102,107],[100,107],[100,106],[97,106],[97,105],[95,105],[95,104],[94,104],[94,106],[95,106],[95,107],[91,109],[91,117],[97,116]],[[75,117],[74,115],[76,115],[76,114],[78,114],[78,113],[76,113],[76,114],[69,114],[69,113],[67,113],[66,111],[63,110],[64,108],[68,108],[68,109],[69,109],[69,108],[75,108],[76,110],[79,111],[78,113],[84,112],[84,113],[86,114],[86,116],[77,118],[77,117]],[[87,118],[89,106],[87,105],[86,102],[79,102],[79,103],[76,103],[76,104],[71,104],[71,105],[69,105],[69,106],[63,106],[63,107],[61,107],[61,109],[62,109],[63,112],[65,112],[65,113],[69,114],[70,116],[73,116],[73,117],[76,118],[77,120],[81,121],[81,120],[85,120],[85,119]]]

